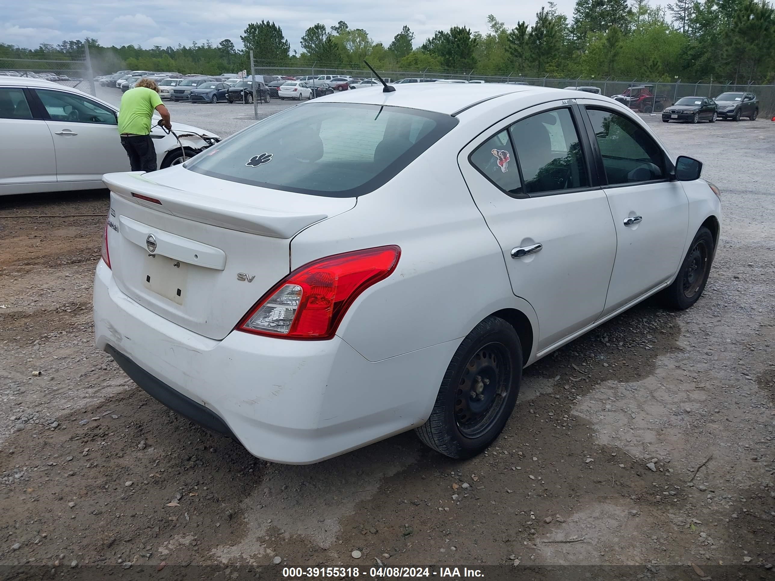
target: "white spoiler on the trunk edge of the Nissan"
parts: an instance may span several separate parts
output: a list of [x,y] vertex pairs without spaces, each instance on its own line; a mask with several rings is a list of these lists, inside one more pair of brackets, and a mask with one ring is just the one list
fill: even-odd
[[114,194],[155,211],[262,236],[292,238],[327,214],[294,214],[179,190],[153,182],[143,172],[105,174],[102,182]]

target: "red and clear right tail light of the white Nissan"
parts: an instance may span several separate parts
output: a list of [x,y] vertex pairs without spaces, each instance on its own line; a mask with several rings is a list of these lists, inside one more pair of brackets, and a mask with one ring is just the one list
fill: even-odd
[[285,339],[331,339],[353,301],[389,277],[399,256],[398,246],[380,246],[305,264],[263,295],[236,329]]

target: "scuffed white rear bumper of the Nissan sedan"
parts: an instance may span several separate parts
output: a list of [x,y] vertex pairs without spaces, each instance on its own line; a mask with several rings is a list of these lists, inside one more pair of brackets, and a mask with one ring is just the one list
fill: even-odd
[[102,261],[95,339],[163,404],[262,459],[319,462],[422,425],[459,341],[376,363],[339,337],[208,339],[123,294]]

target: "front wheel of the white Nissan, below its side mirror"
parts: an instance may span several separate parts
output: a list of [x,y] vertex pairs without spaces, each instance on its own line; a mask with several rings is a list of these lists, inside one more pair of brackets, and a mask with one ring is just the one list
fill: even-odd
[[699,300],[711,273],[714,248],[715,240],[711,231],[702,226],[691,241],[676,280],[661,293],[667,308],[683,311]]

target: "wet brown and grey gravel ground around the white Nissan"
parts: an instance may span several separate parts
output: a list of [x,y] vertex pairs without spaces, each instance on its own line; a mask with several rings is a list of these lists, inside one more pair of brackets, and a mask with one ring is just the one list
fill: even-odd
[[[253,121],[247,105],[170,108],[223,136]],[[0,198],[0,563],[155,571],[280,557],[629,565],[650,576],[691,562],[765,574],[775,564],[775,123],[645,119],[722,188],[704,297],[682,313],[646,301],[531,366],[501,438],[466,462],[409,433],[281,466],[192,425],[93,345],[104,192]],[[76,213],[95,216],[39,217]]]

